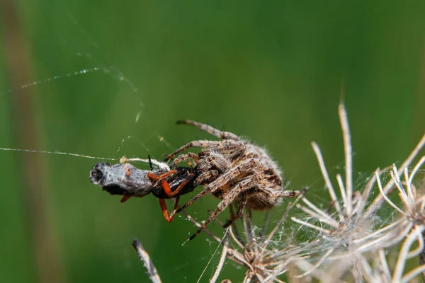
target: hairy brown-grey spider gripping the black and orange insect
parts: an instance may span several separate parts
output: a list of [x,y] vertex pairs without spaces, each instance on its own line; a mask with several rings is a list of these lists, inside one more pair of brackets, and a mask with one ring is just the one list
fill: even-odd
[[239,206],[237,213],[225,224],[226,227],[239,219],[245,207],[254,210],[270,209],[280,204],[283,197],[300,195],[300,191],[285,190],[282,172],[260,146],[251,144],[236,134],[222,132],[200,122],[179,120],[177,123],[198,127],[220,139],[191,141],[165,158],[165,161],[169,161],[186,149],[196,147],[202,149],[199,154],[191,152],[181,154],[171,163],[171,168],[175,168],[182,161],[192,160],[196,164],[193,185],[203,186],[203,191],[180,207],[177,212],[181,212],[207,194],[222,200],[198,231],[190,237],[191,240],[232,202],[237,202]]

